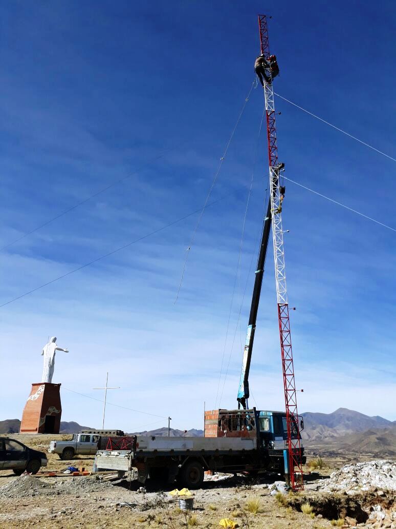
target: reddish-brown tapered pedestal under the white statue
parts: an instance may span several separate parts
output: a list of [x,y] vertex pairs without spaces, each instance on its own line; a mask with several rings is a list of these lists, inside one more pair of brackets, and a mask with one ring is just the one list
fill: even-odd
[[32,384],[23,409],[20,433],[59,433],[61,426],[60,384]]

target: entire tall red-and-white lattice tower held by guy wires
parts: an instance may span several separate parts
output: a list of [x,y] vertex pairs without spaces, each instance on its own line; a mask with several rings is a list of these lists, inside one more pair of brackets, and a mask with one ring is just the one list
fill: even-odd
[[[259,15],[259,31],[261,53],[269,61],[269,41],[266,15]],[[278,162],[278,147],[275,124],[274,89],[272,82],[265,83],[264,95],[267,115],[267,138],[269,159],[269,189],[271,200],[272,217],[272,240],[274,242],[275,279],[278,303],[280,349],[282,355],[282,370],[285,389],[286,419],[287,419],[287,443],[289,450],[289,472],[291,487],[293,489],[304,488],[303,468],[298,457],[301,450],[299,435],[292,439],[296,428],[298,430],[298,413],[296,386],[294,381],[293,351],[291,349],[289,305],[287,302],[285,252],[282,230],[282,200],[284,188],[281,186],[281,173],[283,163]]]

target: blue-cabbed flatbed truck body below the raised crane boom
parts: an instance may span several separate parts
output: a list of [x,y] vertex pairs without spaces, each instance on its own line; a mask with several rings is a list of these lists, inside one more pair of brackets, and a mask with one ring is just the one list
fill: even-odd
[[[282,412],[259,412],[255,408],[206,412],[208,436],[125,437],[123,442],[118,441],[118,446],[126,447],[124,450],[98,450],[94,469],[116,470],[119,477],[129,473],[131,479],[141,483],[148,477],[169,484],[177,480],[191,489],[201,487],[206,470],[251,476],[272,471],[289,481],[286,428],[286,415]],[[300,439],[297,424],[292,436]],[[111,444],[110,437],[109,447]],[[301,444],[295,455],[305,463]]]

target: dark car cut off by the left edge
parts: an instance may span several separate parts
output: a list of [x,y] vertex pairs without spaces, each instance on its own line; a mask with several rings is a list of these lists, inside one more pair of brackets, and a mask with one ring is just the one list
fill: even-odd
[[13,470],[17,476],[25,470],[36,474],[47,463],[44,452],[33,450],[15,439],[0,437],[0,470]]

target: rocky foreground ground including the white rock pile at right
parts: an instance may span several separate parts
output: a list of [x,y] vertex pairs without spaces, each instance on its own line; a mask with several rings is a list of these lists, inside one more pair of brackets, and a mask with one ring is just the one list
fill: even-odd
[[[37,443],[34,448],[38,448],[47,440],[36,436],[31,443],[26,439],[23,442],[32,446]],[[69,463],[89,470],[92,462],[88,457],[65,462],[49,454],[48,470],[60,471]],[[146,492],[139,492],[134,483],[107,482],[104,475],[99,479],[68,475],[15,477],[2,471],[0,527],[40,524],[42,528],[64,529],[176,529],[194,525],[219,527],[221,519],[229,518],[246,528],[396,528],[394,462],[348,463],[338,470],[333,461],[324,463],[324,468],[307,473],[305,490],[298,494],[285,492],[276,476],[249,482],[242,476],[215,475],[204,482],[202,489],[194,491],[194,510],[187,516],[178,509],[178,500],[169,495],[173,487],[164,488],[149,480]]]

